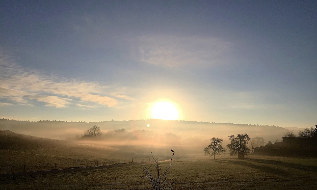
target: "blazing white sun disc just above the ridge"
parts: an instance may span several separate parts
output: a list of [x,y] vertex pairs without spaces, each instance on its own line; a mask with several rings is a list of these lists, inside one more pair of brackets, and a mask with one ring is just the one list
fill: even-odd
[[177,120],[179,111],[171,102],[156,102],[151,108],[152,118],[164,120]]

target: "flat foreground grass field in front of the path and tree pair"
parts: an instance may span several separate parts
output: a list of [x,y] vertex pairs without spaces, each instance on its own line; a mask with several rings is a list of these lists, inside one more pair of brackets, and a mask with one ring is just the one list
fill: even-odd
[[[175,188],[196,189],[317,189],[317,159],[227,155],[175,159],[169,179]],[[148,165],[148,164],[147,164]],[[169,162],[161,163],[162,168]],[[149,165],[148,165],[149,166]],[[3,177],[1,189],[150,189],[142,165],[34,176]],[[186,188],[189,189],[189,188]],[[193,189],[193,188],[191,188]]]

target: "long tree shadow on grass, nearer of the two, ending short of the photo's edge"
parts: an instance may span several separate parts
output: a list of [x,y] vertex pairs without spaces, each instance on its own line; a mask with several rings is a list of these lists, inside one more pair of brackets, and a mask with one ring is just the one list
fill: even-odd
[[249,162],[243,161],[243,160],[237,160],[237,161],[219,160],[216,162],[221,162],[221,161],[226,161],[226,162],[229,162],[230,164],[235,164],[235,165],[240,165],[240,166],[252,167],[252,168],[259,169],[259,170],[262,170],[263,172],[271,173],[271,174],[278,174],[278,175],[283,175],[283,176],[291,176],[292,175],[291,173],[289,173],[283,169],[280,169],[280,168],[269,167],[269,166],[260,166],[260,165],[252,164],[252,163],[249,163]]

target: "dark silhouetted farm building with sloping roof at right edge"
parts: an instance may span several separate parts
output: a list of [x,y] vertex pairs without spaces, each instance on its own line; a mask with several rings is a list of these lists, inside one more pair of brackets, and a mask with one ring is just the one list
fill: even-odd
[[283,137],[282,142],[253,148],[254,154],[317,157],[317,138]]

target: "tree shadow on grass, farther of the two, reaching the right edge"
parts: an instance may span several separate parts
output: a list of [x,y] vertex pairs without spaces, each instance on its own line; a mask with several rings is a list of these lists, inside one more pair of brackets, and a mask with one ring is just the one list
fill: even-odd
[[275,161],[275,160],[255,159],[255,158],[247,158],[247,160],[257,162],[257,163],[262,163],[262,164],[271,164],[271,165],[276,165],[276,166],[281,166],[281,167],[289,167],[289,168],[299,169],[299,170],[303,170],[303,171],[307,171],[307,172],[317,173],[316,166],[294,164],[294,163]]

